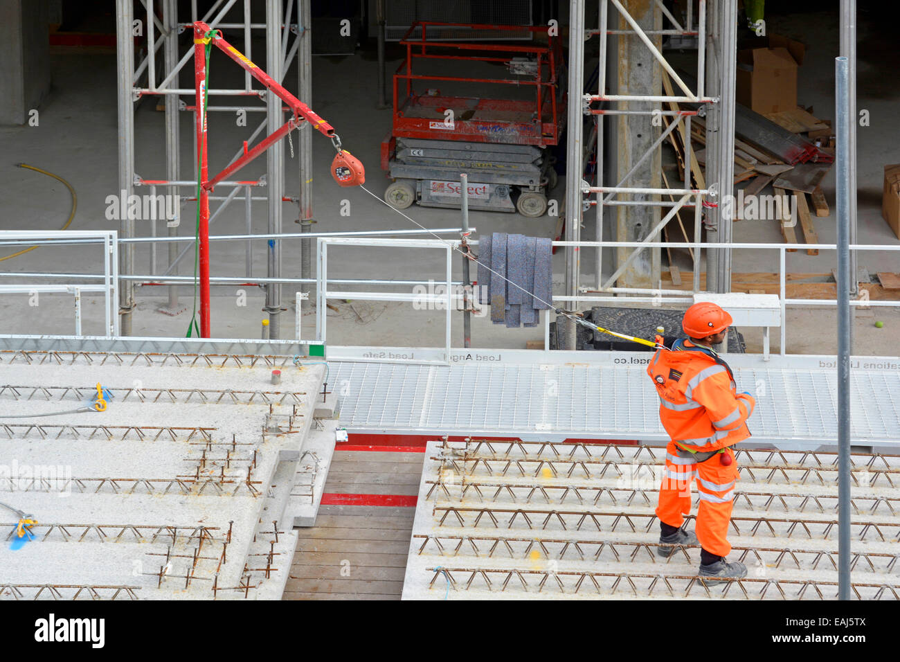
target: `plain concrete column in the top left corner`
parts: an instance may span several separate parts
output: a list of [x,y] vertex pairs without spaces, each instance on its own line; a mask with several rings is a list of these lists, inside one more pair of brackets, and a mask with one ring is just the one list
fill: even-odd
[[0,124],[28,122],[49,94],[48,21],[47,0],[0,0]]

